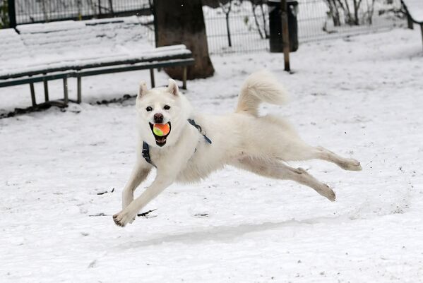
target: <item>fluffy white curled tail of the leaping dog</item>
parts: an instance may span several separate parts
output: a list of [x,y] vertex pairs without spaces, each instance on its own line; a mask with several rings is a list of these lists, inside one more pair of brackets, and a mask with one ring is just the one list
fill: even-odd
[[287,92],[278,83],[275,76],[263,70],[252,73],[242,85],[235,112],[258,116],[258,105],[261,102],[282,105],[287,102]]

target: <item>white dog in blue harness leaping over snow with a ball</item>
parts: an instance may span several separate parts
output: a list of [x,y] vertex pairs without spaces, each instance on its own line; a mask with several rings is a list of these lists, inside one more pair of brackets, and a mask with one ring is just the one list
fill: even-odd
[[[141,83],[136,98],[137,162],[114,222],[124,227],[167,186],[200,181],[227,164],[261,176],[297,181],[334,201],[335,193],[328,186],[304,169],[284,162],[323,159],[345,170],[359,171],[362,167],[355,159],[307,145],[277,116],[258,115],[261,102],[283,104],[286,97],[282,85],[267,71],[260,71],[246,79],[234,113],[211,116],[193,112],[174,80],[169,80],[167,88],[152,90]],[[155,180],[134,200],[133,191],[153,167],[157,169]]]

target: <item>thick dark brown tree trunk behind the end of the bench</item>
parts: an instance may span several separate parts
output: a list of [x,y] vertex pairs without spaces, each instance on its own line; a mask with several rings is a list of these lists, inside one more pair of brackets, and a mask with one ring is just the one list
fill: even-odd
[[[207,37],[201,0],[155,0],[157,47],[185,44],[196,63],[188,67],[187,78],[207,78],[215,69],[208,56]],[[181,80],[183,68],[165,68],[172,78]]]

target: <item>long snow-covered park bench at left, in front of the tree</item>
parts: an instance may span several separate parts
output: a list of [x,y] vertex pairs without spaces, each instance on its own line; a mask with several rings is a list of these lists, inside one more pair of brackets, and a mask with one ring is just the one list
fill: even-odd
[[[30,85],[32,106],[35,83],[44,84],[44,103],[81,102],[81,78],[105,73],[149,69],[152,87],[154,69],[186,67],[194,63],[182,44],[152,48],[143,38],[144,27],[135,16],[106,20],[64,21],[18,25],[0,30],[0,88]],[[145,33],[145,32],[144,32]],[[77,98],[68,98],[68,78],[77,80]],[[64,99],[49,100],[48,81],[63,80]]]

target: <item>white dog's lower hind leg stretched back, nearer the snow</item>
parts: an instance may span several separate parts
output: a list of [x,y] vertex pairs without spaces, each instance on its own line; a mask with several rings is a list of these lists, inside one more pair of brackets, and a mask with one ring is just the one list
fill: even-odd
[[292,180],[313,188],[314,191],[335,201],[335,193],[326,184],[321,183],[302,168],[292,168],[275,160],[243,157],[231,163],[234,167],[251,171],[255,174],[273,179]]

